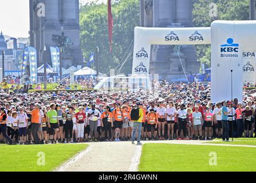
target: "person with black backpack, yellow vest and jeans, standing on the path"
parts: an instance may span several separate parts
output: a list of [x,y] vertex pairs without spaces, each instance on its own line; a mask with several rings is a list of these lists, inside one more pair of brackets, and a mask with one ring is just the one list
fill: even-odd
[[131,120],[133,121],[132,144],[135,144],[134,143],[135,134],[136,134],[136,130],[138,129],[137,145],[142,145],[140,142],[142,118],[143,118],[143,110],[140,108],[140,102],[137,102],[137,106],[134,106],[131,111]]

